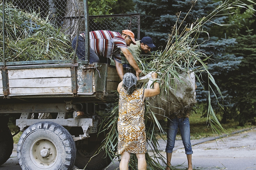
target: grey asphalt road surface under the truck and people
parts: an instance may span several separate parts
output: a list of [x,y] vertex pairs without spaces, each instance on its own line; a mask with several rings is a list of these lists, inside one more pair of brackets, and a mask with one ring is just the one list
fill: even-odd
[[[256,129],[218,138],[216,141],[214,138],[191,140],[191,144],[195,170],[256,170]],[[165,141],[159,140],[159,145],[161,154],[165,156]],[[149,151],[149,154],[152,153]],[[11,156],[0,166],[0,170],[21,170],[16,151]],[[179,169],[187,168],[187,158],[181,140],[176,140],[171,164]],[[118,165],[118,162],[110,165],[107,170],[115,170]]]

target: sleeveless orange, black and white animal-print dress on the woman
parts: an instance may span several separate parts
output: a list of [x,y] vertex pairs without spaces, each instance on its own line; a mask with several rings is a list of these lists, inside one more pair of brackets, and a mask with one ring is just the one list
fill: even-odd
[[128,95],[122,87],[119,92],[118,154],[146,153],[146,132],[144,123],[144,89],[134,90]]

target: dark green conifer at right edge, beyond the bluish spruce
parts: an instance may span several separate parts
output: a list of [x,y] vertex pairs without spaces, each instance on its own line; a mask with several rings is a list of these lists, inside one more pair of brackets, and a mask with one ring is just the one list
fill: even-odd
[[256,120],[256,35],[241,35],[236,39],[238,44],[232,49],[236,56],[244,57],[226,86],[233,96],[234,107],[229,114],[235,115],[239,125],[255,125]]

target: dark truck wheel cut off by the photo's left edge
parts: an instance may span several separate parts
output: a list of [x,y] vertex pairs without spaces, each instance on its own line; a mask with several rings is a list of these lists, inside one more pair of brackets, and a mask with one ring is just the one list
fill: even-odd
[[0,128],[0,165],[4,164],[10,158],[13,143],[10,129],[7,126]]

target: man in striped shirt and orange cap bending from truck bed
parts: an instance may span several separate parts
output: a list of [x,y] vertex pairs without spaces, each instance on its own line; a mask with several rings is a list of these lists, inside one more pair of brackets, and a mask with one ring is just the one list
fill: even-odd
[[[142,70],[139,69],[138,64],[134,60],[132,53],[128,50],[127,46],[136,44],[134,40],[134,33],[128,29],[123,30],[122,33],[112,32],[108,30],[91,31],[90,35],[90,63],[102,62],[110,63],[109,58],[113,58],[116,69],[121,80],[123,79],[123,66],[121,62],[120,52],[124,54],[129,64],[136,71],[136,76]],[[72,41],[73,49],[76,48],[76,37]],[[85,60],[85,35],[81,33],[78,38],[78,47],[76,54],[80,60]]]

